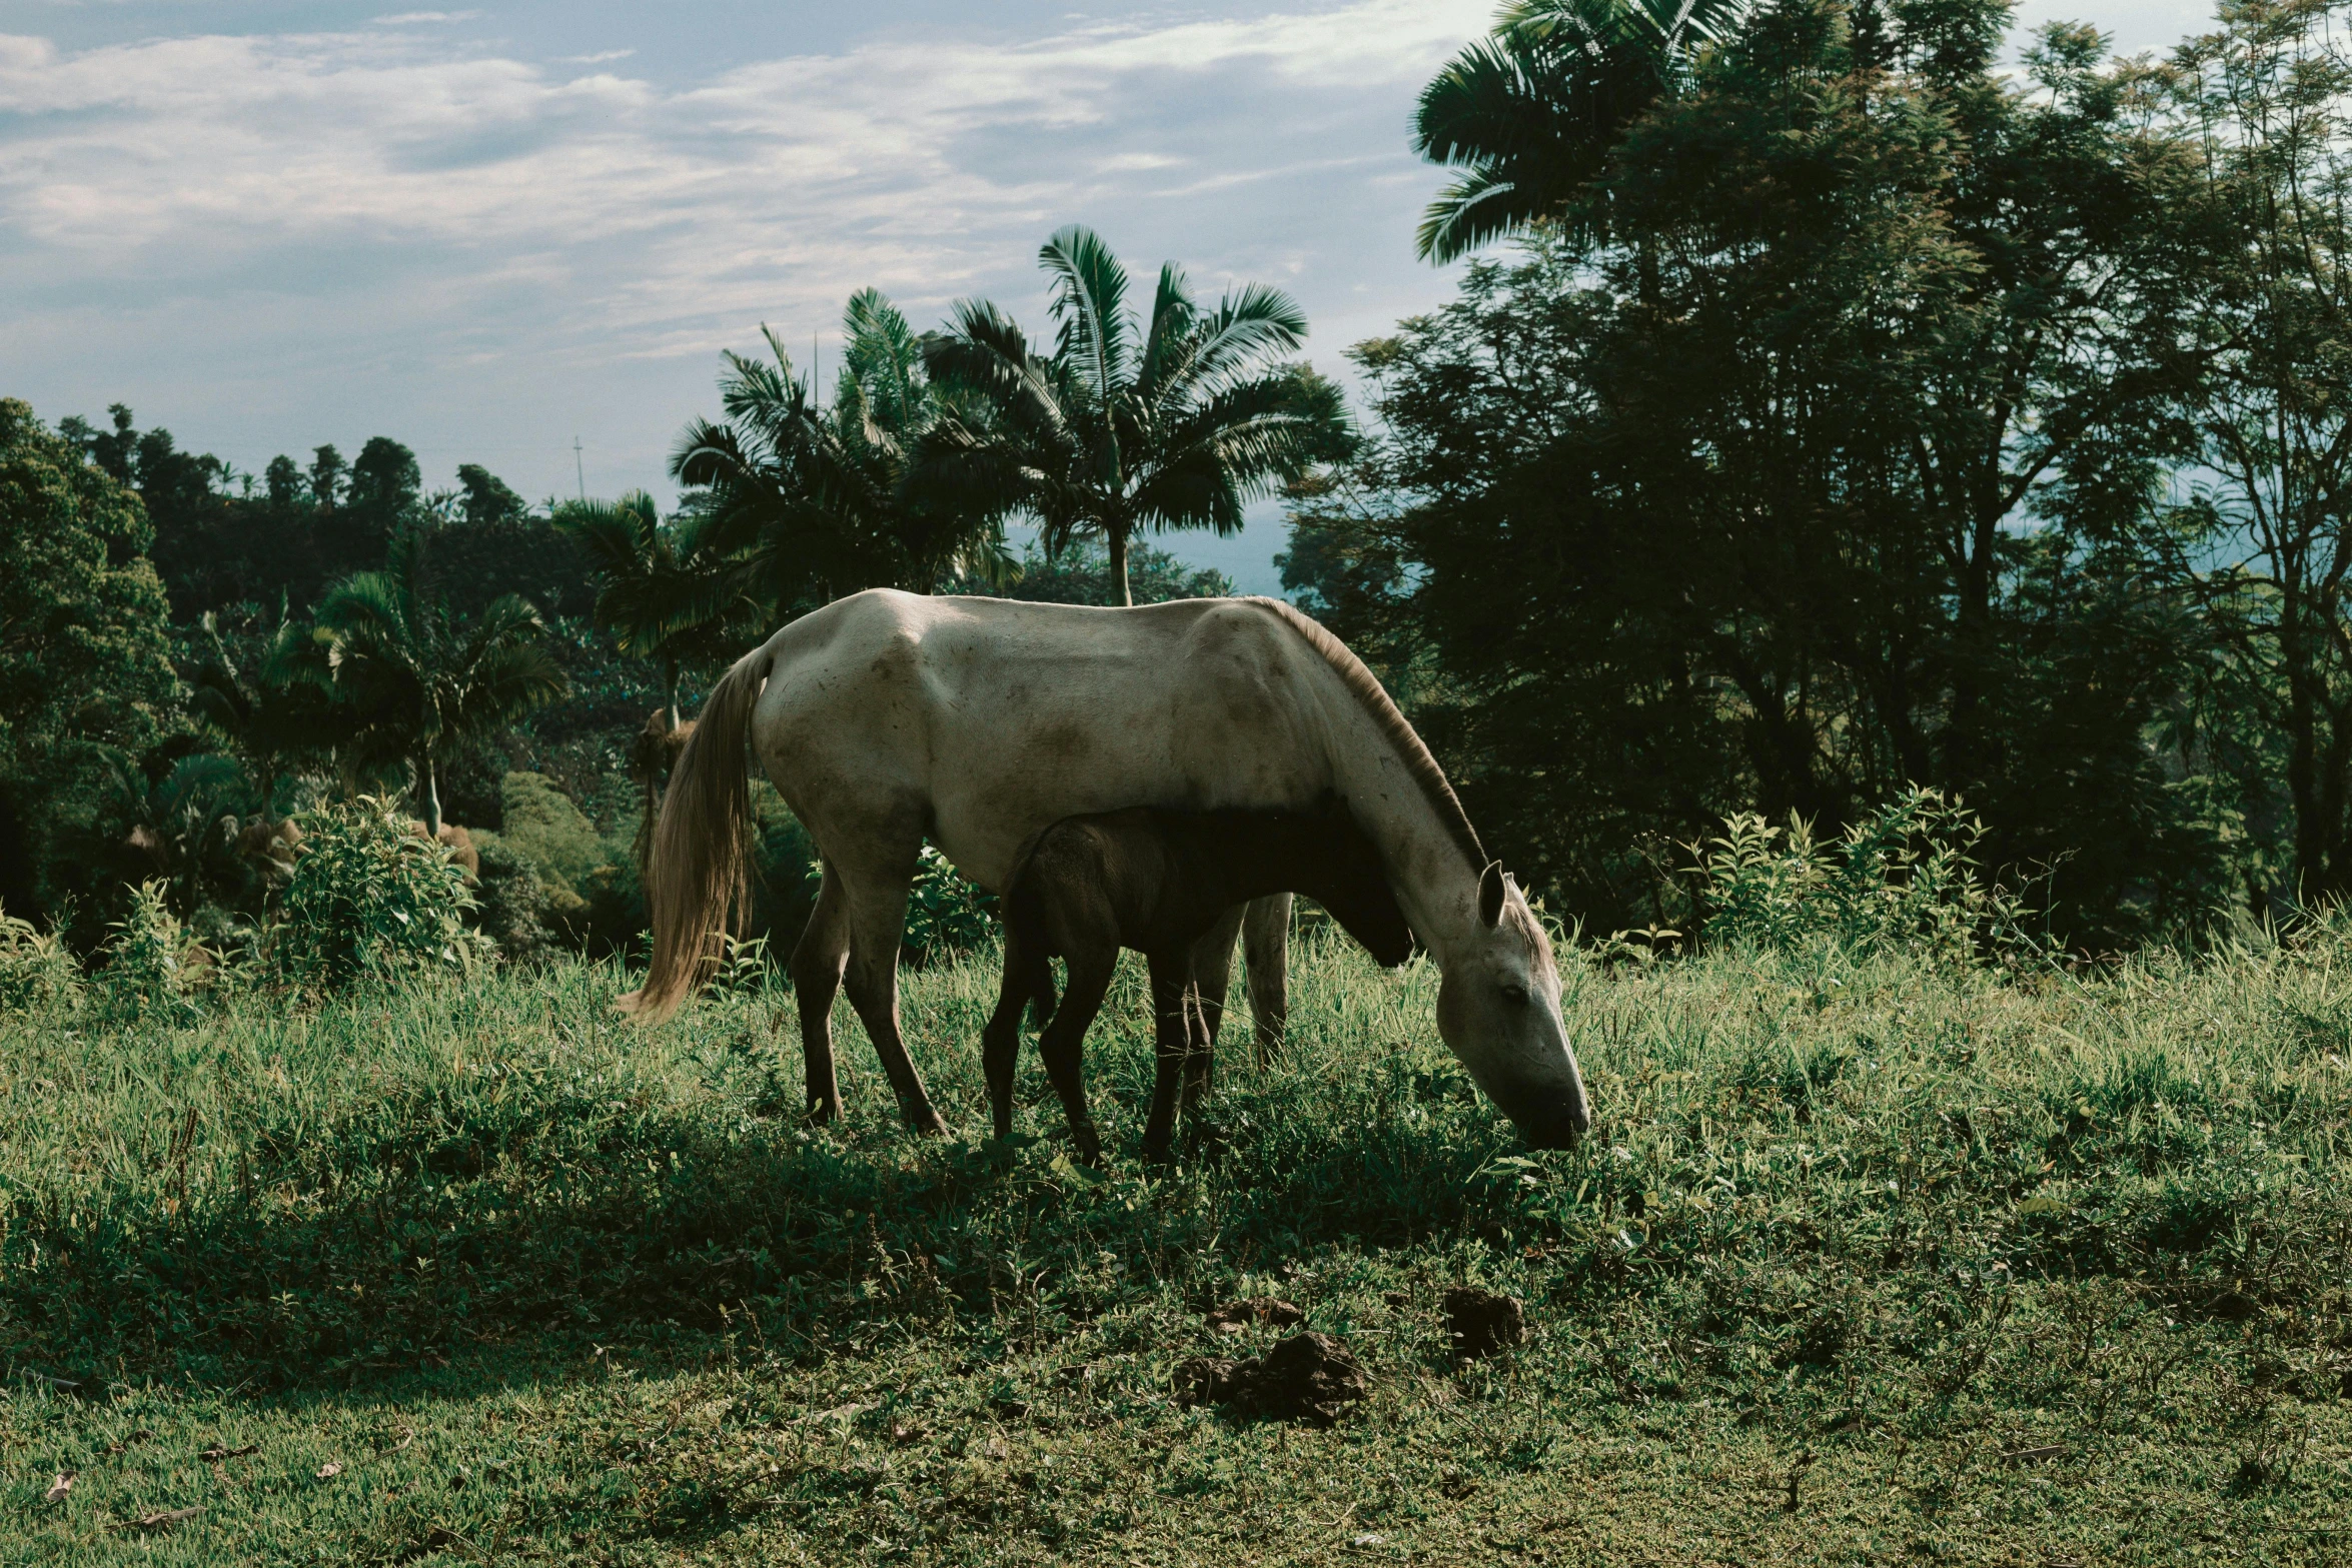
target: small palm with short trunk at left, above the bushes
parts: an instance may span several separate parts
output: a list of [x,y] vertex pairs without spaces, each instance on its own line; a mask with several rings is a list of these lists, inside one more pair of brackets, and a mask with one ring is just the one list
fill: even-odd
[[414,529],[393,538],[383,571],[327,590],[313,639],[327,677],[360,719],[358,750],[409,757],[426,832],[440,835],[440,762],[569,693],[546,623],[522,595],[494,599],[470,625],[426,578]]

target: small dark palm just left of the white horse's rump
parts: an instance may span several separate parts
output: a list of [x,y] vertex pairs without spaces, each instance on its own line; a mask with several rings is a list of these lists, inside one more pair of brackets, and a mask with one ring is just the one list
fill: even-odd
[[661,710],[677,729],[680,668],[724,658],[755,611],[741,562],[715,548],[713,515],[687,510],[661,522],[654,498],[633,489],[619,501],[567,501],[555,527],[579,541],[597,574],[597,625],[623,654],[661,665]]

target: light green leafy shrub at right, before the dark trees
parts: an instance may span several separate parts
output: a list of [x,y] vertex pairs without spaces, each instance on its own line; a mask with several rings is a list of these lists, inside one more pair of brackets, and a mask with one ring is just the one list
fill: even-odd
[[2025,905],[1976,867],[1985,825],[1940,790],[1912,788],[1816,844],[1802,818],[1771,827],[1738,813],[1698,856],[1710,943],[1849,952],[1917,947],[1945,961],[2020,957],[2042,943]]

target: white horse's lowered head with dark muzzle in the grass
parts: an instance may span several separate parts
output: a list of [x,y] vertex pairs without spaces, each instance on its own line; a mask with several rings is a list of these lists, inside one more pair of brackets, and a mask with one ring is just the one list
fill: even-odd
[[1592,1126],[1592,1100],[1559,1018],[1559,969],[1501,863],[1477,884],[1477,922],[1439,954],[1437,1032],[1519,1133],[1559,1150]]

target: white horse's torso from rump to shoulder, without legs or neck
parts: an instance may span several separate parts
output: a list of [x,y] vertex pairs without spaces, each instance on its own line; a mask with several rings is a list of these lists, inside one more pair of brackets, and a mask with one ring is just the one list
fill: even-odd
[[818,844],[828,818],[920,809],[983,886],[1007,886],[1021,844],[1068,816],[1296,806],[1329,788],[1322,656],[1244,599],[873,590],[769,654],[760,755]]

